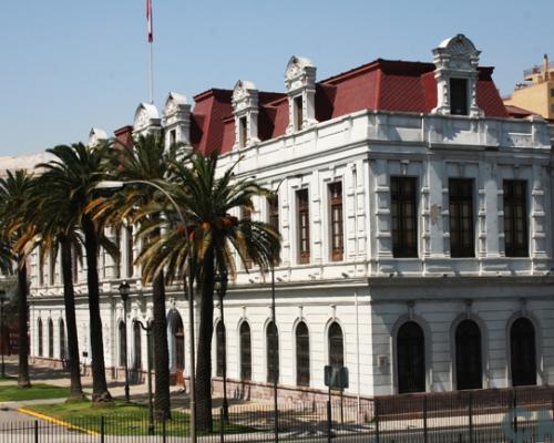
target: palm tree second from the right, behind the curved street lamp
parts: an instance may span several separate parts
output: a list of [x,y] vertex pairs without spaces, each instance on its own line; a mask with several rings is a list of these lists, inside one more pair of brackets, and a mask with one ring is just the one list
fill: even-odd
[[[114,227],[125,220],[132,225],[148,220],[157,224],[166,197],[154,186],[136,182],[166,179],[170,166],[176,161],[177,147],[178,145],[175,145],[165,150],[164,134],[157,132],[140,135],[134,140],[132,148],[119,146],[112,150],[111,178],[130,184],[109,199],[99,198],[91,205],[91,209],[94,208],[95,214],[105,217],[106,223]],[[157,235],[156,230],[152,233],[152,236]],[[147,241],[148,238],[145,238],[144,245]],[[147,282],[152,282],[154,305],[154,409],[157,420],[167,420],[171,419],[170,354],[163,271]]]

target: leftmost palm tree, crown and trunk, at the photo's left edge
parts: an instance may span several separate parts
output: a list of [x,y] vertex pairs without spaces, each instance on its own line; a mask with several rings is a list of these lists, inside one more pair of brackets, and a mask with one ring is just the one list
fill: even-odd
[[[3,249],[11,249],[11,256],[18,265],[18,324],[19,324],[19,373],[18,385],[31,387],[29,378],[29,312],[27,299],[29,282],[27,279],[27,258],[24,254],[16,254],[13,246],[30,228],[24,217],[24,204],[29,198],[33,178],[23,169],[14,173],[8,171],[0,178],[0,219],[2,220],[2,237],[6,238]],[[4,255],[3,253],[2,255]]]

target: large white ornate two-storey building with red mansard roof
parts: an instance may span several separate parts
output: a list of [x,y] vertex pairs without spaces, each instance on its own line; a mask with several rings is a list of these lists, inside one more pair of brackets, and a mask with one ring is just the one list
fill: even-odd
[[[161,119],[141,104],[131,132],[166,127],[168,143],[222,148],[220,167],[278,189],[253,217],[279,227],[278,382],[284,398],[325,389],[343,364],[347,394],[501,388],[554,382],[551,155],[554,126],[509,115],[480,51],[463,35],[433,63],[376,60],[317,81],[293,56],[285,93],[240,80],[194,97],[171,93]],[[91,138],[105,134],[94,130]],[[95,138],[94,138],[95,137]],[[238,214],[236,214],[238,216]],[[152,316],[133,266],[132,227],[121,262],[100,260],[106,365],[122,377],[127,324]],[[64,334],[60,268],[32,265],[32,356],[58,359]],[[85,270],[75,275],[80,349],[89,351]],[[213,368],[220,381],[216,307]],[[172,373],[187,374],[187,307],[167,296]],[[264,395],[271,379],[269,276],[240,271],[225,299],[233,395]],[[185,332],[183,332],[185,331]],[[145,336],[129,328],[130,364],[146,367]],[[138,363],[136,361],[138,360]]]

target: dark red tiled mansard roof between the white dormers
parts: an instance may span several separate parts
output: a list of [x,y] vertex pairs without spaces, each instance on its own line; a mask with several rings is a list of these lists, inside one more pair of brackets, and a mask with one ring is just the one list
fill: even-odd
[[[319,122],[361,110],[429,113],[437,106],[434,64],[378,59],[316,84]],[[509,117],[492,80],[493,68],[479,68],[478,105],[485,116]],[[191,141],[203,153],[230,151],[235,142],[230,90],[212,89],[194,97]],[[284,93],[259,92],[258,135],[284,135],[288,100]]]

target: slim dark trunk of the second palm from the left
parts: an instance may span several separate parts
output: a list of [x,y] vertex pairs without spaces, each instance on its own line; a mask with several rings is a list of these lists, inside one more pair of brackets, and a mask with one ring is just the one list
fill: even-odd
[[[71,261],[71,241],[68,237],[61,238],[63,302],[65,306],[65,326],[68,328],[68,352],[70,370],[70,398],[82,399],[81,373],[79,371],[79,339],[76,336],[75,298],[73,291],[73,265]],[[62,356],[63,357],[63,356]]]

